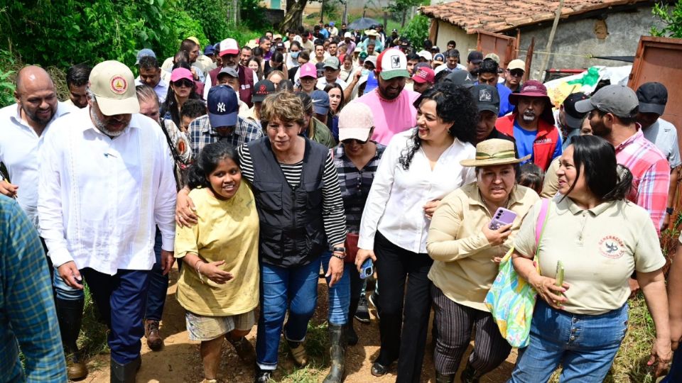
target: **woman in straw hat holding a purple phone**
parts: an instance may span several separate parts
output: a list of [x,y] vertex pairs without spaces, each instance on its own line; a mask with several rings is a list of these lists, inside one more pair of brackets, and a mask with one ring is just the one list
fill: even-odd
[[[436,209],[426,248],[434,262],[428,273],[438,337],[435,345],[436,382],[455,379],[472,329],[474,350],[462,372],[462,382],[478,382],[509,355],[483,301],[497,276],[497,262],[511,247],[511,235],[539,197],[533,189],[516,185],[519,162],[514,143],[491,139],[476,145],[476,158],[462,166],[476,167],[476,182],[448,194]],[[513,223],[490,228],[497,209],[516,213]],[[504,217],[502,218],[504,220]]]

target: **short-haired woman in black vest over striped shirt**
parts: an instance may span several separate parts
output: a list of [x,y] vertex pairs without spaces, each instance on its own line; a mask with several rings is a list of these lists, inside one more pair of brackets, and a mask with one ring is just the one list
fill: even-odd
[[[317,304],[320,257],[325,250],[332,248],[330,286],[343,274],[346,224],[336,167],[328,148],[300,135],[303,114],[296,95],[267,96],[261,106],[267,137],[238,150],[260,220],[256,382],[271,379],[282,332],[296,363],[308,363],[303,340]],[[178,194],[175,218],[180,226],[196,223],[187,194],[187,189]],[[342,347],[341,336],[332,339],[332,347],[335,343]]]

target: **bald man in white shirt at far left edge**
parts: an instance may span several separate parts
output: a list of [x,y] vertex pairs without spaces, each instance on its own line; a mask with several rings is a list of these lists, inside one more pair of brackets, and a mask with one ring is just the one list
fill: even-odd
[[[38,164],[45,134],[60,116],[77,109],[57,101],[50,74],[35,66],[25,67],[18,72],[14,97],[16,104],[0,109],[0,162],[5,164],[9,173],[9,179],[0,177],[0,194],[16,198],[21,209],[38,228]],[[53,268],[49,262],[48,267],[52,275]],[[87,368],[80,360],[76,340],[85,296],[81,290],[59,283],[56,277],[55,308],[62,343],[67,354],[71,355],[67,363],[67,376],[69,379],[82,379],[87,376]]]

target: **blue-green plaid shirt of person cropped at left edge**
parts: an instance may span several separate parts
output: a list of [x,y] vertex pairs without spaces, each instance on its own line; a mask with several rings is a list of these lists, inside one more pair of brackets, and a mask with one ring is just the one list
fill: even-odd
[[[26,358],[23,368],[19,348]],[[1,195],[0,371],[3,382],[66,382],[52,284],[38,231],[16,201]]]

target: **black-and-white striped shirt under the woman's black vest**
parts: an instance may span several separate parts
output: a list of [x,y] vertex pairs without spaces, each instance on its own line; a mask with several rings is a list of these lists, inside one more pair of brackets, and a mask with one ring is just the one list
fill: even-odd
[[[239,165],[242,167],[242,175],[249,182],[254,182],[254,162],[251,160],[251,152],[247,145],[242,145],[239,152]],[[303,162],[296,164],[282,164],[279,166],[284,173],[289,187],[296,188],[301,183],[301,170]],[[325,223],[325,233],[331,246],[344,243],[346,239],[346,216],[343,210],[343,199],[339,187],[339,177],[328,153],[325,160],[325,172],[323,174],[324,186],[322,187],[322,219]]]

